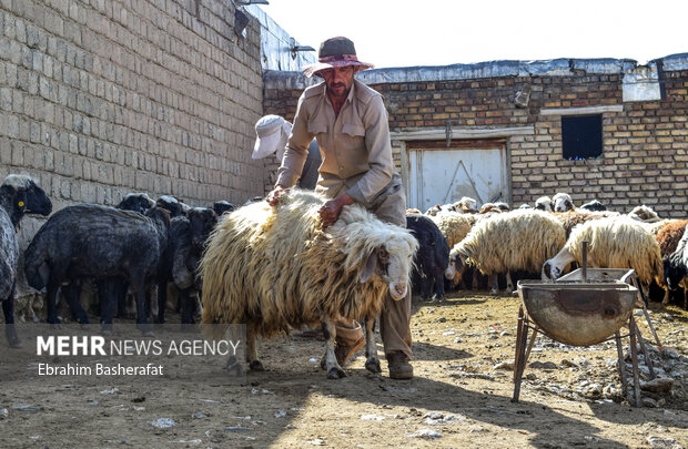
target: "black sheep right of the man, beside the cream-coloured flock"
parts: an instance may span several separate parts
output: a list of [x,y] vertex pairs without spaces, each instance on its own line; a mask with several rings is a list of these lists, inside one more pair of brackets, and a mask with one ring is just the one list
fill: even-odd
[[414,278],[421,278],[421,298],[428,299],[433,283],[433,299],[444,298],[444,271],[449,263],[449,245],[435,222],[422,214],[406,215],[406,227],[419,243],[414,258]]

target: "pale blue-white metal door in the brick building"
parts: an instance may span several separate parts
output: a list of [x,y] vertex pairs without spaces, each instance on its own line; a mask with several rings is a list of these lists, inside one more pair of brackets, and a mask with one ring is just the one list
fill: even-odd
[[408,142],[408,207],[426,211],[435,204],[471,196],[478,205],[510,202],[504,140]]

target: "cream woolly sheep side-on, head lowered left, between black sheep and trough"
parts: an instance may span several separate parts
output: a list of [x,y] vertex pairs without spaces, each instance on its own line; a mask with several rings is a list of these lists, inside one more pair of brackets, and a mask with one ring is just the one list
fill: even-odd
[[466,264],[475,265],[490,276],[492,293],[497,293],[499,273],[507,274],[507,288],[513,289],[509,272],[538,273],[543,262],[566,243],[564,226],[550,214],[537,210],[518,210],[497,214],[476,223],[471,233],[449,253],[447,278]]

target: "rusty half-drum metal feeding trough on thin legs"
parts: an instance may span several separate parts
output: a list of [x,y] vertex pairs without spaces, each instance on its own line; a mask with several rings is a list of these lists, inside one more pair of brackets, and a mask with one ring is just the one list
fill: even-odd
[[[619,375],[626,391],[626,373],[619,329],[628,325],[634,369],[636,405],[640,406],[640,387],[636,338],[645,354],[650,376],[655,374],[633,312],[638,299],[644,306],[635,272],[625,268],[587,268],[587,247],[584,243],[583,268],[552,280],[520,280],[516,333],[516,358],[514,364],[514,401],[518,401],[520,380],[530,349],[538,331],[559,343],[573,346],[589,346],[615,338],[619,357]],[[645,308],[644,308],[644,312]],[[646,317],[647,316],[646,312]],[[532,322],[532,324],[530,324]],[[657,339],[655,329],[652,334]],[[533,335],[528,344],[528,329]],[[657,339],[659,345],[659,340]]]

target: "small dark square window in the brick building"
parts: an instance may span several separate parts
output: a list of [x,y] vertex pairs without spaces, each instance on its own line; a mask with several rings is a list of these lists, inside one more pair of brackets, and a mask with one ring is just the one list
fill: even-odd
[[601,115],[561,118],[561,145],[565,160],[579,161],[601,155]]

